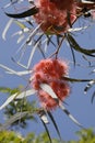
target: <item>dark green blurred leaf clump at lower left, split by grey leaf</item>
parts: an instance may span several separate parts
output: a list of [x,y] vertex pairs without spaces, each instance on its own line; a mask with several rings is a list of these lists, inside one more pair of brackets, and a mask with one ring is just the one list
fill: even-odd
[[[25,112],[25,111],[31,111],[34,110],[35,101],[28,102],[26,99],[21,99],[20,101],[13,101],[11,102],[5,109],[4,109],[4,114],[7,119],[10,119],[12,116],[16,114],[17,112]],[[27,120],[34,120],[36,121],[35,117],[33,114],[25,116],[21,118],[21,121],[16,120],[14,121],[11,125],[20,125],[22,128],[26,127],[26,121]]]

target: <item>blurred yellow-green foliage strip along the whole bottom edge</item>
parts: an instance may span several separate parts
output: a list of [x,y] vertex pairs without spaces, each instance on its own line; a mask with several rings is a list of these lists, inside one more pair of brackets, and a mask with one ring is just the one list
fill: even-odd
[[[78,134],[78,141],[62,141],[61,143],[95,143],[95,133],[92,129],[81,130]],[[39,135],[29,133],[23,138],[16,132],[5,130],[0,132],[0,143],[49,143],[49,141],[46,133]],[[52,143],[60,143],[60,141],[52,139]]]

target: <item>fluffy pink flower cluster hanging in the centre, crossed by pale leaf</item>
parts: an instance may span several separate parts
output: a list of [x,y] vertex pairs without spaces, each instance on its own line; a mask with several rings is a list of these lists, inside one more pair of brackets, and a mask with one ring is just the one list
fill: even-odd
[[61,78],[67,74],[68,65],[60,59],[41,59],[34,66],[32,86],[38,91],[39,101],[45,109],[51,110],[58,106],[58,102],[44,91],[39,85],[48,84],[57,95],[58,99],[63,101],[70,94],[68,81]]

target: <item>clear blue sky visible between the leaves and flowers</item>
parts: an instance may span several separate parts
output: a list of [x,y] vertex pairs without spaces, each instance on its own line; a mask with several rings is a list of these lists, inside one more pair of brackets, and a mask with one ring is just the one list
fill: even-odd
[[[5,2],[4,2],[5,3]],[[0,3],[0,6],[3,6],[3,2]],[[16,25],[12,24],[10,30],[7,34],[7,41],[2,40],[2,31],[9,21],[9,18],[3,13],[2,9],[0,8],[0,64],[7,65],[8,67],[11,67],[14,70],[21,70],[22,68],[12,62],[11,57],[14,56],[14,53],[20,47],[20,45],[16,44],[16,37],[12,37],[11,35],[16,31]],[[81,22],[83,20],[80,20]],[[90,22],[91,21],[91,22]],[[85,32],[78,32],[74,34],[74,37],[78,40],[78,43],[80,43],[81,46],[86,48],[95,48],[95,25],[94,21],[92,23],[92,20],[86,21],[86,23],[91,23],[92,26],[90,26]],[[78,22],[75,26],[80,26],[80,23]],[[83,22],[82,22],[83,24]],[[81,25],[82,25],[81,24]],[[54,40],[55,41],[55,40]],[[51,45],[48,48],[48,53],[51,53],[51,48],[54,48]],[[27,55],[28,56],[28,55]],[[70,77],[74,78],[95,78],[95,74],[90,75],[90,73],[94,68],[87,68],[87,62],[83,59],[82,55],[75,52],[76,62],[82,64],[82,67],[73,67],[72,64],[72,54],[70,48],[67,46],[67,42],[61,47],[61,51],[59,53],[59,57],[62,59],[69,61],[70,66]],[[33,65],[37,63],[41,56],[39,55],[39,52],[35,53]],[[93,64],[95,63],[95,58],[88,57],[88,59],[93,59]],[[95,64],[94,64],[95,65]],[[0,68],[0,86],[8,86],[8,87],[16,87],[19,85],[26,86],[27,82],[23,80],[22,78],[17,76],[12,75],[5,75],[4,70]],[[86,95],[84,95],[84,88],[86,82],[79,84],[74,82],[71,84],[71,94],[70,97],[66,100],[69,106],[66,106],[67,109],[83,124],[85,128],[94,128],[95,129],[95,100],[93,105],[91,103],[92,94],[95,90],[95,86],[88,90]],[[35,97],[35,96],[34,96]],[[7,97],[2,96],[0,94],[0,105],[7,99]],[[2,111],[1,111],[2,113]],[[80,130],[79,127],[76,127],[61,110],[57,109],[52,112],[55,116],[55,119],[58,123],[59,130],[61,132],[63,140],[76,140],[75,132]],[[0,122],[3,121],[0,119]],[[52,127],[52,124],[49,124],[50,134],[52,136],[56,136],[57,133]],[[23,132],[23,134],[27,132],[35,131],[36,133],[43,132],[44,127],[41,125],[40,121],[38,120],[38,123],[29,122],[29,125],[26,130],[20,130]]]

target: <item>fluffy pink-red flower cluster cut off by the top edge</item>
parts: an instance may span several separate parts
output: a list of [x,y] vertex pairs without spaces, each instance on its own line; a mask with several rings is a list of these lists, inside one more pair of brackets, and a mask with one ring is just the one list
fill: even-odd
[[41,30],[48,33],[66,32],[76,19],[76,3],[74,0],[36,0],[39,12],[34,15],[35,21],[41,23]]

